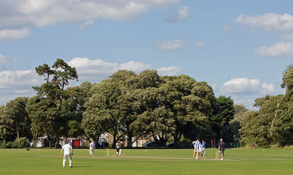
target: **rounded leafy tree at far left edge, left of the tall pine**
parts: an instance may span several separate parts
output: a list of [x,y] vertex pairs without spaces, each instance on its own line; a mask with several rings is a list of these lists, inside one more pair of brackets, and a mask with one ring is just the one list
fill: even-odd
[[1,132],[2,137],[14,135],[16,138],[30,137],[30,120],[25,106],[28,97],[17,97],[2,107]]

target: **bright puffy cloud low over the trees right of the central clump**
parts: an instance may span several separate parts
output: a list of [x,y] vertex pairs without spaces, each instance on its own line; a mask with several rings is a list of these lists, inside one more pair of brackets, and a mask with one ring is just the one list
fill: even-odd
[[260,83],[258,79],[234,78],[226,81],[221,88],[221,92],[226,94],[268,94],[276,93],[273,83]]

